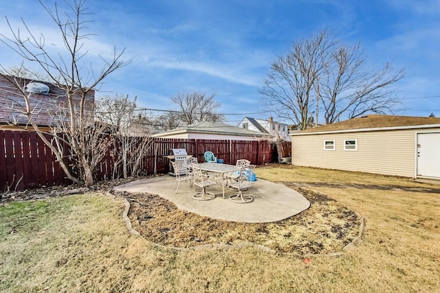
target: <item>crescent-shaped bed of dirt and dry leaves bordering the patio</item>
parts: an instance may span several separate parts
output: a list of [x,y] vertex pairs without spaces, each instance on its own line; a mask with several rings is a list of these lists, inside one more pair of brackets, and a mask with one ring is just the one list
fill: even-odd
[[311,207],[286,220],[261,224],[214,220],[181,211],[173,202],[153,194],[113,194],[130,202],[133,228],[142,237],[164,246],[252,242],[279,253],[311,255],[341,251],[358,236],[362,220],[357,213],[323,194],[296,189]]

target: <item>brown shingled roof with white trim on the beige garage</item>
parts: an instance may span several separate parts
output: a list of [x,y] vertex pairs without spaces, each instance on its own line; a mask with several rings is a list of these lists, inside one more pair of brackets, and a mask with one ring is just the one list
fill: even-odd
[[369,131],[386,130],[398,128],[416,128],[417,127],[440,127],[440,118],[436,117],[411,117],[411,116],[393,116],[393,115],[367,115],[360,118],[353,118],[333,124],[318,126],[316,128],[307,128],[294,132],[293,135],[311,134],[319,132],[347,132],[349,130]]

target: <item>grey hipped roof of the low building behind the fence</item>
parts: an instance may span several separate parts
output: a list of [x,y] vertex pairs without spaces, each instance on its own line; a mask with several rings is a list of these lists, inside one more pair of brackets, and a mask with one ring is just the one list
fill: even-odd
[[173,130],[168,130],[165,132],[153,134],[153,137],[163,137],[170,134],[181,134],[181,133],[227,134],[227,135],[252,136],[252,137],[262,136],[261,132],[256,132],[245,128],[232,126],[229,124],[202,121],[195,124],[190,124],[188,126],[181,126]]

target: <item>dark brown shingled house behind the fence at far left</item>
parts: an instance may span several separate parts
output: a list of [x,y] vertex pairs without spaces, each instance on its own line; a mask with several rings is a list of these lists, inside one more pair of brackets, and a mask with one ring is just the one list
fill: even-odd
[[[54,119],[67,119],[67,97],[65,91],[49,82],[19,78],[21,89],[30,95],[32,119],[39,126],[51,126]],[[77,97],[76,100],[80,100]],[[94,103],[95,91],[87,93],[87,102]],[[28,127],[28,118],[21,112],[25,108],[23,94],[3,75],[0,75],[0,127],[5,130]]]

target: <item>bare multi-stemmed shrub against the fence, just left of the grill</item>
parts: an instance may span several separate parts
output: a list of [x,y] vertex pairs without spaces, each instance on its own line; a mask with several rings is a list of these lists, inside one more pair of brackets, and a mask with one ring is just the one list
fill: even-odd
[[98,102],[97,117],[109,124],[109,132],[115,137],[113,146],[113,162],[115,164],[113,178],[129,174],[136,176],[142,171],[145,155],[152,146],[150,119],[144,111],[137,109],[136,98],[131,101],[129,96],[104,97]]

